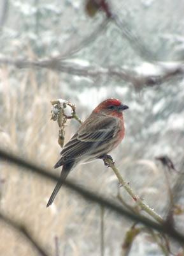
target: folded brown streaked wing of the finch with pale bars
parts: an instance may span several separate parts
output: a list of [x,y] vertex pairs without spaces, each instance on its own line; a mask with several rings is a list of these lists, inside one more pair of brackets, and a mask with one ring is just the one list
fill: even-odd
[[99,148],[108,143],[117,132],[118,118],[102,116],[100,121],[94,124],[90,123],[90,118],[88,119],[60,152],[60,165],[91,154],[97,146]]

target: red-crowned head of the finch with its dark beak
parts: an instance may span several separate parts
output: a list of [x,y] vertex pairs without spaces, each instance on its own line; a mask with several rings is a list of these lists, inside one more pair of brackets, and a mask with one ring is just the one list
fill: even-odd
[[118,99],[107,99],[101,102],[95,109],[95,113],[104,113],[105,115],[122,115],[122,112],[129,108],[128,106],[122,104]]

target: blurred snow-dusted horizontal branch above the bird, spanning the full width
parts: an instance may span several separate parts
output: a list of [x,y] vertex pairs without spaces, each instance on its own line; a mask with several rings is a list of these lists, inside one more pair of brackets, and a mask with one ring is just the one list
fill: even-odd
[[[74,76],[97,78],[101,76],[118,77],[123,81],[132,83],[137,90],[144,86],[155,86],[162,84],[172,77],[182,76],[184,74],[184,63],[155,63],[152,65],[155,72],[153,74],[143,74],[144,67],[134,69],[125,67],[99,67],[96,65],[81,65],[60,58],[46,58],[45,60],[25,60],[23,58],[0,58],[0,65],[13,65],[17,68],[48,68],[71,74]],[[141,70],[141,71],[138,71]]]

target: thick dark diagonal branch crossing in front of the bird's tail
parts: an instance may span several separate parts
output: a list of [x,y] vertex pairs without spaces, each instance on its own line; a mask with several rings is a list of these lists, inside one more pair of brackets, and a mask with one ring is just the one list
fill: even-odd
[[[18,156],[13,156],[12,154],[4,152],[4,150],[1,149],[0,158],[3,159],[4,161],[8,161],[8,163],[21,166],[22,168],[25,168],[25,170],[29,172],[41,175],[46,179],[50,179],[55,182],[60,181],[60,179],[57,176],[50,173],[50,170],[46,168],[41,168],[41,166],[37,166],[36,164],[26,161]],[[146,225],[146,227],[150,227],[163,234],[167,234],[168,236],[173,237],[173,239],[175,239],[176,241],[184,244],[183,234],[175,230],[173,227],[168,227],[168,225],[166,225],[165,223],[162,225],[157,224],[155,223],[155,221],[149,220],[146,217],[139,216],[134,214],[133,212],[127,211],[122,206],[115,204],[114,202],[110,202],[106,198],[97,195],[97,193],[92,193],[91,191],[88,191],[88,189],[81,188],[80,186],[74,184],[74,182],[71,182],[69,180],[65,180],[63,182],[63,185],[66,186],[66,188],[76,191],[79,195],[83,196],[83,198],[90,200],[91,202],[96,202],[97,204],[103,205],[104,207],[110,209],[111,211],[117,212],[117,214],[119,214],[120,216],[125,216],[129,220],[143,223],[144,225]]]

